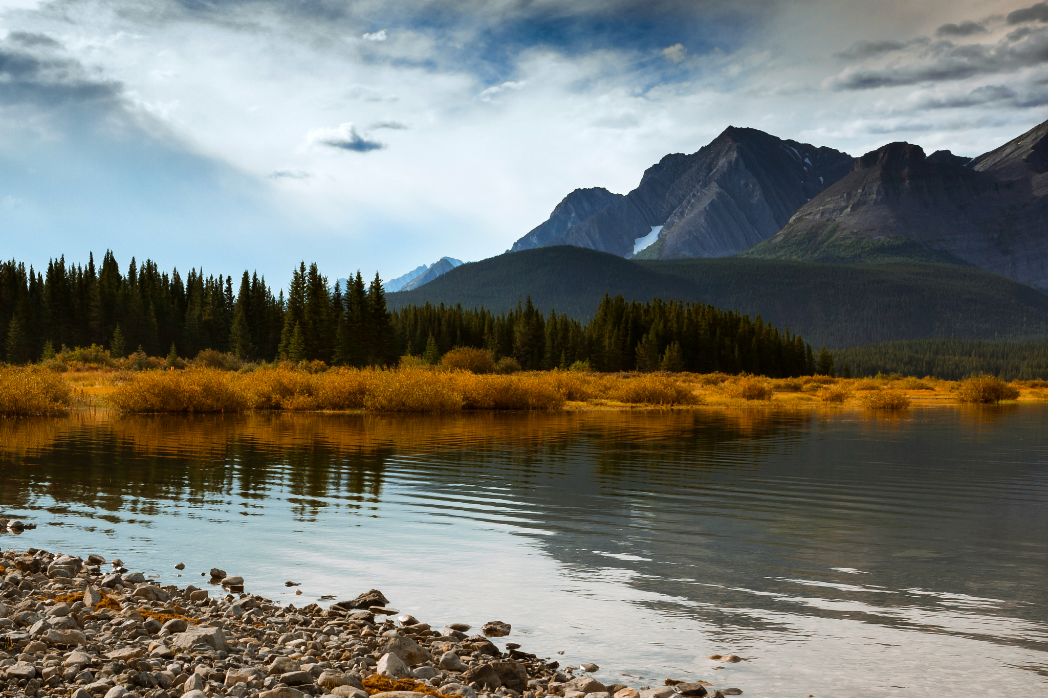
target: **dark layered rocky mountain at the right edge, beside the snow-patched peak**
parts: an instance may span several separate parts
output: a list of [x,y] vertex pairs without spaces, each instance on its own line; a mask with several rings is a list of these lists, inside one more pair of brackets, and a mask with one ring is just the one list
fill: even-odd
[[1048,121],[965,161],[889,143],[744,256],[968,264],[1048,291]]

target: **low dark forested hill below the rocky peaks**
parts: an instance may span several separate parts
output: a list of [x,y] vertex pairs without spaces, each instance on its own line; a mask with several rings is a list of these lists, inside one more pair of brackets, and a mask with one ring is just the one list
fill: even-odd
[[1048,296],[970,266],[816,264],[740,257],[629,261],[577,247],[542,247],[462,265],[390,308],[461,302],[494,311],[536,306],[588,319],[605,293],[701,301],[760,315],[815,345],[894,339],[1048,339]]

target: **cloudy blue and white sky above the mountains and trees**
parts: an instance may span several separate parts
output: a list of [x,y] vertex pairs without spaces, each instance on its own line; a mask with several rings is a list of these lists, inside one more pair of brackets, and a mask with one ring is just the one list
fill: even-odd
[[1048,118],[1048,2],[0,0],[0,256],[499,254],[728,126],[975,156]]

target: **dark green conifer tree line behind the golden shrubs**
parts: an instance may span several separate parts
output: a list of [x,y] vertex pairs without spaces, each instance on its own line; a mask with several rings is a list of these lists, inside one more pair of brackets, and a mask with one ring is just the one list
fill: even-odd
[[[324,361],[392,365],[402,355],[429,360],[456,346],[486,348],[525,369],[692,370],[801,376],[825,367],[811,346],[760,317],[703,303],[627,301],[606,296],[583,324],[536,308],[530,298],[503,313],[458,306],[411,306],[390,312],[378,274],[361,272],[333,286],[315,264],[291,273],[287,296],[264,276],[191,269],[161,272],[134,258],[122,272],[111,252],[95,265],[52,260],[46,272],[0,263],[0,337],[8,363],[46,359],[61,347],[103,346],[123,357],[193,357],[203,350],[248,361]],[[832,365],[832,364],[831,364]]]

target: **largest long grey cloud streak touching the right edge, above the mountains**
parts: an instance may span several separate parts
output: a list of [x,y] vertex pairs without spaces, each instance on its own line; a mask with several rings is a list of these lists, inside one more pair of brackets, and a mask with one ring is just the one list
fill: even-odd
[[940,41],[909,64],[889,68],[846,70],[831,81],[840,90],[917,85],[1012,72],[1048,63],[1048,29],[1038,28],[1017,41],[995,45]]

